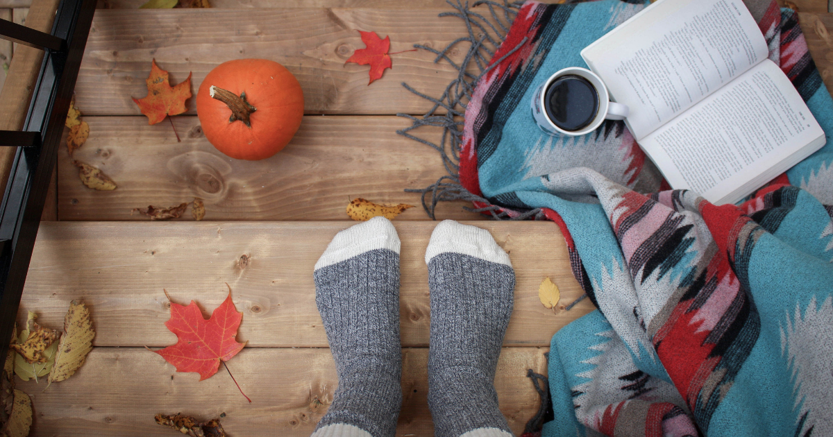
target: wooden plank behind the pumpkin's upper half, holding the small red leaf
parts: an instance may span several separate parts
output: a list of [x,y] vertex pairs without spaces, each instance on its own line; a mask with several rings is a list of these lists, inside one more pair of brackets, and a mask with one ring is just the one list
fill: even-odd
[[[281,62],[301,82],[307,113],[422,113],[431,102],[402,87],[407,82],[440,96],[457,72],[424,50],[393,56],[393,68],[371,86],[368,67],[345,61],[365,47],[356,29],[391,37],[391,52],[415,43],[431,47],[466,34],[447,9],[172,9],[96,12],[76,85],[76,102],[91,115],[139,115],[131,97],[147,94],[150,62],[178,83],[192,72],[192,91],[222,61],[261,57]],[[299,37],[299,36],[303,37]],[[466,47],[451,50],[461,61]],[[189,114],[196,113],[193,100]]]

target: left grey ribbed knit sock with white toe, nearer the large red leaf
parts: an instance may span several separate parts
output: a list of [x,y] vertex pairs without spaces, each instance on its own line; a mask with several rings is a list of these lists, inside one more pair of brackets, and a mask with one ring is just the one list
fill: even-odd
[[313,437],[387,437],[402,405],[399,237],[376,217],[332,239],[315,266],[338,388]]

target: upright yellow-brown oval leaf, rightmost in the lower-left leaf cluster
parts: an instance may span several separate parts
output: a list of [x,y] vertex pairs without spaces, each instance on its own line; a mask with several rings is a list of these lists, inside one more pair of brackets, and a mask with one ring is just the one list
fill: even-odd
[[49,372],[49,384],[66,380],[84,364],[87,354],[92,350],[92,339],[95,336],[96,331],[92,329],[87,306],[72,300],[67,315],[63,317],[63,335],[57,346],[55,365]]

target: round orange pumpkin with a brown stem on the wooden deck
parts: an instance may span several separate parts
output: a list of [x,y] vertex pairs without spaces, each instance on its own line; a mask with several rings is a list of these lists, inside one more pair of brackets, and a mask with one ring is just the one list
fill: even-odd
[[197,116],[208,142],[227,156],[257,161],[281,151],[301,126],[301,84],[266,59],[223,62],[197,92]]

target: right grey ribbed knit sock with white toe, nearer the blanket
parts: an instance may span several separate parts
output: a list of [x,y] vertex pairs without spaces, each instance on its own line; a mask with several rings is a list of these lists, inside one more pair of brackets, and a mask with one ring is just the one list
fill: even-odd
[[436,437],[511,436],[495,370],[515,271],[489,231],[442,221],[425,254],[431,289],[428,406]]

